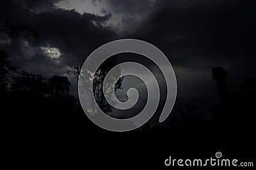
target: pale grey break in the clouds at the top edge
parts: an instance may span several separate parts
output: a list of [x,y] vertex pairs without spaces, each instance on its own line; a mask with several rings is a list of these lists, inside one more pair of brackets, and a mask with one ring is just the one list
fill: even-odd
[[75,10],[81,15],[91,13],[109,16],[108,20],[100,25],[111,27],[117,32],[136,31],[138,25],[148,20],[150,13],[156,11],[155,0],[63,0],[54,3],[54,6],[57,9]]

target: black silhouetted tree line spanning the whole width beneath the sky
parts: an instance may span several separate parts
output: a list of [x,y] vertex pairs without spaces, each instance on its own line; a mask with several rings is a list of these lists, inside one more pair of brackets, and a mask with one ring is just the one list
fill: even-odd
[[[6,22],[4,29],[10,38],[15,38],[19,32],[31,31],[26,27],[19,27]],[[35,36],[38,34],[32,31]],[[31,74],[19,71],[10,62],[10,55],[0,50],[0,92],[3,118],[10,121],[10,128],[15,125],[17,131],[41,131],[51,134],[72,131],[72,129],[97,129],[84,114],[79,102],[69,94],[70,81],[67,76],[54,75],[45,78],[42,74]],[[102,95],[102,83],[111,66],[116,63],[116,58],[104,63],[95,74],[93,92],[97,103],[106,113],[111,108]],[[82,65],[81,65],[82,66]],[[77,78],[81,66],[74,69]],[[195,103],[188,103],[185,108],[175,108],[172,118],[164,125],[145,124],[139,131],[158,131],[159,129],[172,130],[173,127],[189,127],[189,129],[250,129],[255,115],[256,79],[247,79],[241,90],[233,91],[225,83],[227,71],[222,67],[212,67],[212,79],[218,88],[218,97],[221,104],[214,105],[212,111],[216,115],[214,120],[204,120],[202,113],[197,111]],[[122,78],[116,83],[116,89],[122,86]],[[254,112],[253,112],[254,111]],[[178,116],[177,116],[178,115]],[[180,123],[181,122],[181,123]],[[94,128],[95,127],[95,128]],[[47,132],[46,131],[46,132]],[[96,131],[96,130],[95,130]]]

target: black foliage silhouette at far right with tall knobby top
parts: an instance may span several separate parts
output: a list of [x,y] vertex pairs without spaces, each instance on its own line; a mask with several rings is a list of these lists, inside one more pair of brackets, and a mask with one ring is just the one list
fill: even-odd
[[[222,129],[230,131],[250,131],[253,114],[253,104],[256,95],[255,78],[246,80],[240,91],[232,91],[225,83],[228,74],[222,67],[212,67],[212,79],[219,89],[218,96],[221,99],[221,106],[216,110],[216,122]],[[249,128],[249,129],[248,129]]]

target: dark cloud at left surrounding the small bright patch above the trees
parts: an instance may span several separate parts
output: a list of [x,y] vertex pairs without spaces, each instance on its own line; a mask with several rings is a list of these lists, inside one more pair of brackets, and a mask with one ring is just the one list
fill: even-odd
[[[70,69],[79,66],[99,45],[115,39],[116,34],[108,27],[97,25],[107,20],[108,15],[99,17],[88,13],[81,15],[74,10],[58,10],[53,3],[56,1],[10,1],[1,6],[1,24],[10,20],[12,24],[26,25],[39,34],[38,38],[34,38],[29,32],[23,32],[12,39],[10,45],[4,46],[13,56],[12,62],[20,69],[46,76],[73,76]],[[42,5],[49,9],[36,13],[31,10]],[[54,60],[47,57],[42,47],[58,49],[60,58]],[[72,85],[76,87],[76,82]]]

